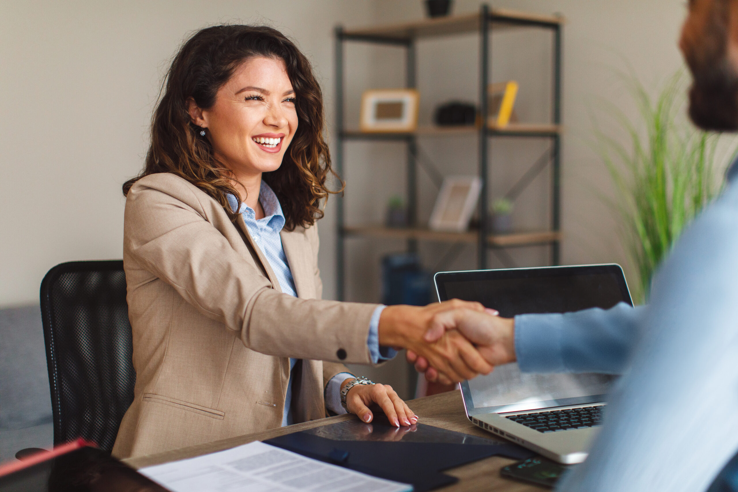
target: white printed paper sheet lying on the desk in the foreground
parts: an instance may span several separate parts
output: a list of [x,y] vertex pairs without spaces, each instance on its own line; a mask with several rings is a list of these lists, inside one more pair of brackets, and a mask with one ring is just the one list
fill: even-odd
[[260,442],[141,468],[173,492],[401,492],[413,487]]

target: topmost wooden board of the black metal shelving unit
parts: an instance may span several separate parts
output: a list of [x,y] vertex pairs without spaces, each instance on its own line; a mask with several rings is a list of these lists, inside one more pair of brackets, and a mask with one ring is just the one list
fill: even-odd
[[[563,24],[564,19],[555,15],[539,15],[515,10],[492,9],[492,29],[503,29],[528,24]],[[347,36],[388,39],[430,38],[479,30],[480,13],[449,15],[448,17],[427,18],[420,21],[385,24],[384,26],[359,27],[345,30]]]

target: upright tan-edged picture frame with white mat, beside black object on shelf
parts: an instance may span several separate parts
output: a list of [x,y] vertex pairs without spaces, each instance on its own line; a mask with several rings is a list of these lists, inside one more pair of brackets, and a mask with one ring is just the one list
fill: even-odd
[[367,132],[410,132],[418,128],[415,89],[374,89],[362,94],[359,128]]

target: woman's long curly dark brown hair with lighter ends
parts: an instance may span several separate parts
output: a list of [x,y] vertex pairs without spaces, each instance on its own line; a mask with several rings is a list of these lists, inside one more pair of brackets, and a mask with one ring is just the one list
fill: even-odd
[[[213,146],[199,136],[187,111],[192,97],[202,109],[215,104],[215,94],[244,61],[253,57],[280,58],[295,92],[297,131],[282,164],[263,173],[285,216],[285,229],[311,226],[323,217],[321,201],[331,191],[326,185],[331,156],[323,139],[323,93],[308,59],[281,32],[266,26],[221,25],[196,32],[179,49],[162,85],[159,104],[151,118],[151,146],[142,172],[123,184],[123,195],[144,176],[172,173],[215,198],[232,221],[227,195],[240,201],[231,171],[213,156]],[[240,206],[240,203],[239,203]]]

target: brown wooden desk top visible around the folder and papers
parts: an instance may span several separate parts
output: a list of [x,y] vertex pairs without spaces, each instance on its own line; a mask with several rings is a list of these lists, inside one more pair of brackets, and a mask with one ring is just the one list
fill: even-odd
[[[479,437],[491,437],[491,434],[484,432],[477,426],[473,425],[466,419],[463,412],[463,403],[461,403],[461,392],[452,391],[441,393],[440,395],[428,396],[426,398],[418,398],[407,402],[413,412],[420,417],[418,423],[424,423],[429,426],[441,427],[452,431],[465,432],[466,434],[477,435]],[[149,454],[148,456],[129,458],[123,460],[134,468],[142,468],[144,466],[159,465],[161,463],[183,460],[184,458],[192,458],[201,454],[213,453],[224,449],[240,446],[241,444],[251,443],[255,440],[266,440],[272,437],[290,434],[291,432],[311,429],[313,427],[325,426],[328,423],[340,422],[342,420],[350,420],[356,418],[354,415],[338,415],[337,417],[328,417],[321,420],[313,420],[306,423],[297,423],[294,426],[280,427],[270,429],[263,432],[255,432],[245,436],[231,437],[214,441],[213,443],[199,444],[198,446],[190,446],[189,448],[175,449],[166,451],[165,453]],[[495,492],[532,492],[547,491],[549,489],[540,488],[535,485],[526,485],[521,482],[500,477],[500,468],[509,465],[515,460],[508,460],[503,457],[490,457],[468,465],[452,468],[452,470],[444,473],[459,477],[461,479],[454,485],[439,489],[444,492],[466,492],[466,491],[495,491]]]

